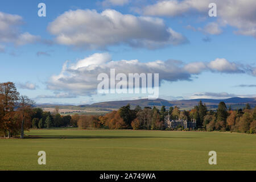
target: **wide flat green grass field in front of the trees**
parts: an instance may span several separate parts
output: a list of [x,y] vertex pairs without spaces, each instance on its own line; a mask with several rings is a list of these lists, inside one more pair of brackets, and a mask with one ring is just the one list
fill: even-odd
[[[0,139],[0,170],[256,170],[256,135],[195,131],[31,130]],[[46,151],[39,165],[38,151]],[[209,165],[209,151],[217,165]]]

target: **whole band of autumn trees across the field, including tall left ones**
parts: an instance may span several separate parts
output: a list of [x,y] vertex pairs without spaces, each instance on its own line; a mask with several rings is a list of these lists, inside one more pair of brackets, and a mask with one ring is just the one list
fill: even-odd
[[218,104],[218,109],[208,110],[203,102],[191,110],[181,110],[179,107],[130,105],[121,107],[105,115],[60,115],[59,108],[55,111],[43,111],[34,107],[35,102],[26,96],[20,96],[13,82],[0,83],[0,136],[24,137],[24,130],[43,129],[50,127],[79,127],[80,129],[134,129],[134,130],[192,130],[179,127],[170,129],[165,118],[196,121],[197,130],[231,131],[241,133],[256,133],[256,107],[246,104],[243,109],[232,110],[224,102]]

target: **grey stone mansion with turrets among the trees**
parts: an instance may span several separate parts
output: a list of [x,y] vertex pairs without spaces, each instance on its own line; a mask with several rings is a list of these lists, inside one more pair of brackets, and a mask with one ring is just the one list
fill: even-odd
[[170,115],[167,115],[164,118],[164,124],[168,128],[175,129],[177,127],[184,127],[184,129],[196,129],[196,120],[187,121],[187,119],[170,119]]

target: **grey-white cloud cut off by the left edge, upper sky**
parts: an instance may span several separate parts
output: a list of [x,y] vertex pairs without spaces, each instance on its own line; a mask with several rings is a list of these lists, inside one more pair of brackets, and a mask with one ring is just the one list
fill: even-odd
[[22,46],[40,41],[40,36],[20,32],[19,28],[23,23],[23,19],[19,15],[0,12],[0,42]]

